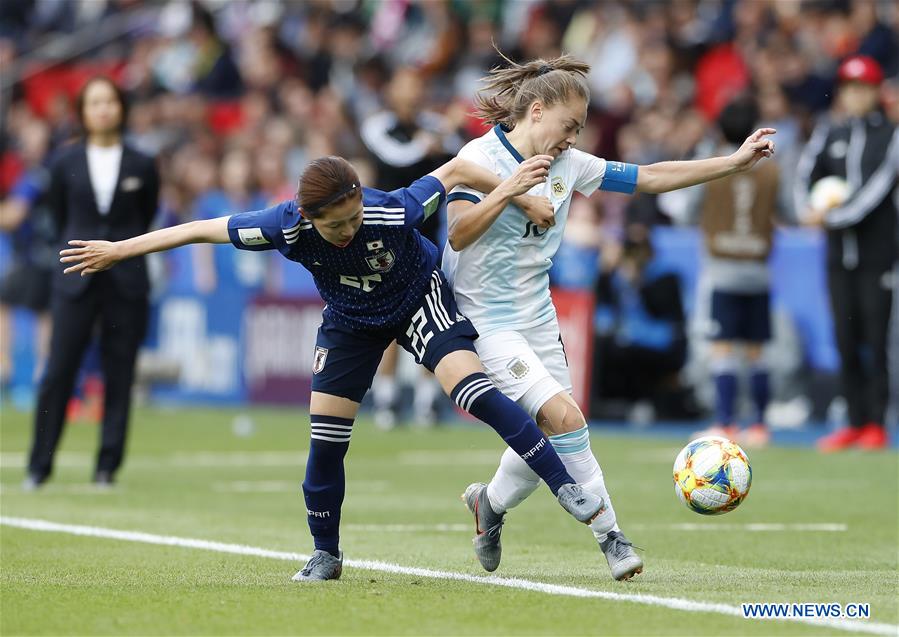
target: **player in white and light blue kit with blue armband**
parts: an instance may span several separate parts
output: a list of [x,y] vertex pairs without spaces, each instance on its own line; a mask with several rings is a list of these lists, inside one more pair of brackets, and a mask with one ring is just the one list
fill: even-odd
[[[545,183],[529,194],[548,205],[494,211],[484,194],[459,187],[449,195],[448,243],[443,267],[462,312],[479,333],[475,341],[488,377],[518,401],[549,435],[568,471],[607,506],[590,525],[615,579],[640,573],[643,563],[621,533],[602,470],[590,448],[584,415],[571,397],[571,377],[548,271],[562,240],[575,192],[596,189],[659,193],[748,170],[770,156],[773,129],[754,132],[728,157],[637,166],[606,161],[573,148],[587,118],[589,65],[570,56],[494,69],[478,96],[479,115],[493,128],[468,143],[459,157],[500,177],[538,154],[553,162]],[[514,453],[503,454],[488,485],[475,483],[463,496],[475,513],[475,553],[493,570],[501,555],[505,512],[521,503],[539,480]]]

